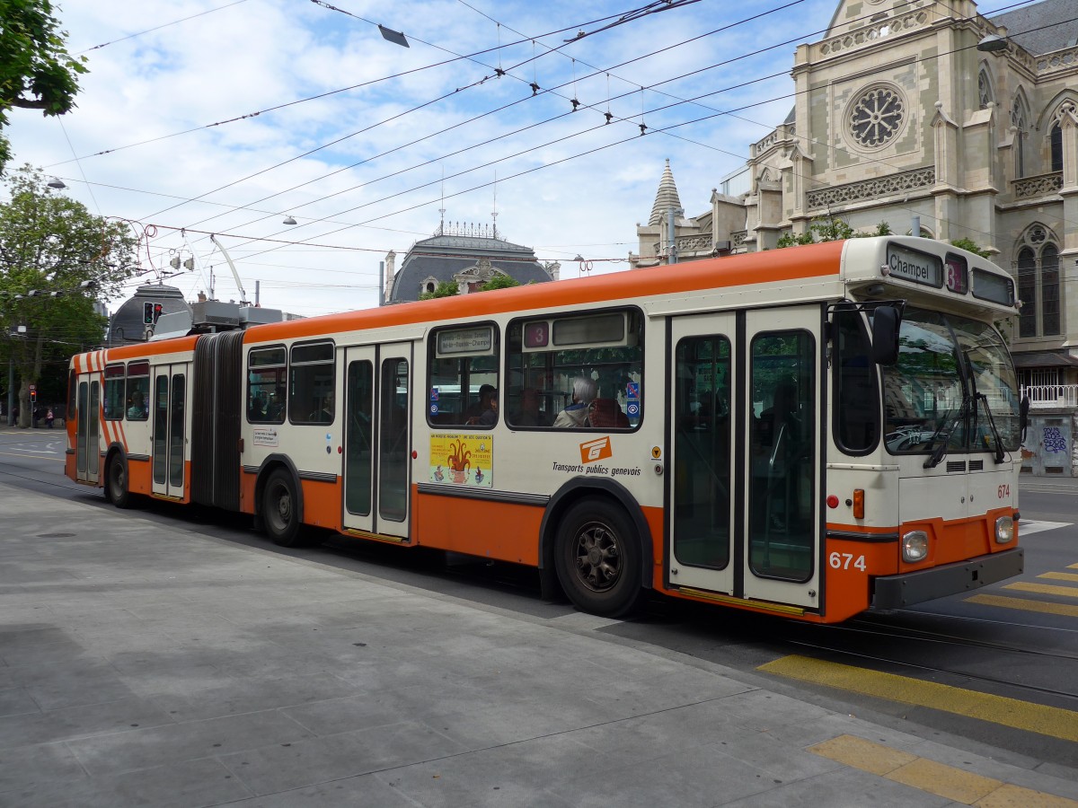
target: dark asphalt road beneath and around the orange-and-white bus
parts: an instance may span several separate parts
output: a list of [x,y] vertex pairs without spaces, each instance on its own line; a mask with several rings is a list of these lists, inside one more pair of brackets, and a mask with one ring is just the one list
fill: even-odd
[[[50,497],[111,507],[99,491],[63,475],[61,431],[0,431],[0,479]],[[759,675],[775,660],[812,658],[868,674],[909,682],[916,694],[932,686],[1014,699],[1078,714],[1078,486],[1022,480],[1022,576],[972,595],[953,596],[907,610],[870,613],[841,626],[814,626],[760,617],[717,607],[653,597],[632,621],[603,631],[715,661]],[[168,523],[195,533],[428,588],[461,599],[555,618],[573,611],[544,601],[533,570],[442,553],[330,538],[320,547],[273,547],[251,530],[250,518],[169,503],[142,503],[129,512],[146,524]],[[990,747],[1023,749],[1037,760],[1074,767],[1074,741],[1050,730],[1024,732],[991,718],[954,714],[920,696],[881,698],[871,692],[837,691],[818,681],[776,679],[800,698],[816,699],[880,723],[926,737],[945,732]],[[921,703],[917,702],[920,699]],[[991,713],[986,713],[990,715]],[[913,727],[913,729],[911,729]]]

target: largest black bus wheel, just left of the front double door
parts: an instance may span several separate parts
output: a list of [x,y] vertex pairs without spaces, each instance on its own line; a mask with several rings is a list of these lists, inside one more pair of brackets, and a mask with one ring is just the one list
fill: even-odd
[[562,588],[579,609],[622,617],[642,601],[640,538],[623,509],[581,500],[562,518],[554,545]]

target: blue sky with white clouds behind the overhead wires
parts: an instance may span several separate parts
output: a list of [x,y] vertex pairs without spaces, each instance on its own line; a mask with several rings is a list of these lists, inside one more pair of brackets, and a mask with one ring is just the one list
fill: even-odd
[[432,235],[441,208],[468,227],[497,210],[499,235],[562,262],[563,278],[578,254],[617,271],[664,159],[687,213],[704,212],[790,110],[796,45],[820,37],[835,2],[634,14],[665,6],[67,0],[68,46],[91,72],[71,114],[11,113],[12,167],[41,167],[146,234],[141,282],[193,256],[166,280],[189,297],[211,267],[217,297],[239,297],[213,233],[263,306],[375,305],[378,262]]

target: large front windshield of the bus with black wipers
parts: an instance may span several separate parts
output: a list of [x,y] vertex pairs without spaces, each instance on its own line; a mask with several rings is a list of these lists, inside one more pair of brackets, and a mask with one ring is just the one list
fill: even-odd
[[1018,449],[1018,380],[991,324],[907,308],[899,346],[898,362],[883,368],[888,451]]

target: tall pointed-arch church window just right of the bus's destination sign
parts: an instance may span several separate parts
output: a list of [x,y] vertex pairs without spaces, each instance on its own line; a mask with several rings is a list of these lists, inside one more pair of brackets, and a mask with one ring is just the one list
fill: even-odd
[[1063,302],[1055,235],[1044,225],[1034,224],[1026,228],[1020,242],[1015,262],[1018,294],[1022,301],[1019,336],[1059,336],[1063,333]]

